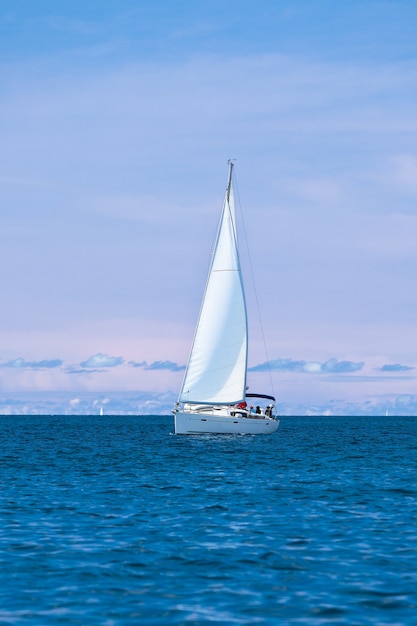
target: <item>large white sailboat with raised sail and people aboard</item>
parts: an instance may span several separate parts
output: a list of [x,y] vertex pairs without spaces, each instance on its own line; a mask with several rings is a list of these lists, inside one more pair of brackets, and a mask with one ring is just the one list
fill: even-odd
[[279,425],[275,398],[247,393],[248,323],[237,242],[233,166],[229,161],[200,316],[173,409],[178,435],[269,434]]

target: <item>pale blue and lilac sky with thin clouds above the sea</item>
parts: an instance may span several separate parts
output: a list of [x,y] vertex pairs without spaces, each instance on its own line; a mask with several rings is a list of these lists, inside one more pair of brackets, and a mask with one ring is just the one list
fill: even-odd
[[416,23],[1,0],[0,413],[170,412],[234,158],[250,390],[417,415]]

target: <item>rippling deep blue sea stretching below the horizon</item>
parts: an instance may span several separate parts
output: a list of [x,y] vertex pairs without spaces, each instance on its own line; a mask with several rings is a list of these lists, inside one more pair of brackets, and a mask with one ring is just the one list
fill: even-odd
[[0,416],[0,624],[417,624],[417,418]]

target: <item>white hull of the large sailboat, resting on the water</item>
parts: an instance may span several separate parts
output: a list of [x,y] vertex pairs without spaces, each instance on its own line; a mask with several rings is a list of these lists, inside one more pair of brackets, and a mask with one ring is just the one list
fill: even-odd
[[201,415],[198,413],[175,413],[176,435],[269,435],[279,426],[279,420],[238,416]]

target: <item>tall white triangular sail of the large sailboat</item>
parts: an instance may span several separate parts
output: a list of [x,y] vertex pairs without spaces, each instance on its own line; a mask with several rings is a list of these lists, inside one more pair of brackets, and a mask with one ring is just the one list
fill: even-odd
[[230,404],[245,397],[247,316],[237,246],[233,164],[180,402]]

